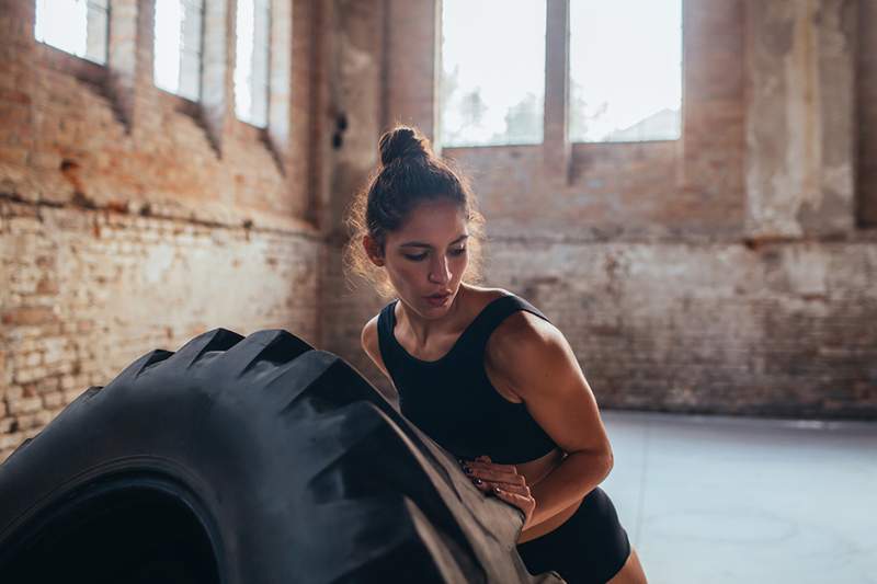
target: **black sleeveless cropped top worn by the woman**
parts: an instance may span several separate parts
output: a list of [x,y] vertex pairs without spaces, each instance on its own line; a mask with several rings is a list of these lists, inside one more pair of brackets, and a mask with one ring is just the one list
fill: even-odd
[[[399,391],[402,415],[458,458],[487,455],[493,462],[515,465],[556,448],[524,403],[506,400],[485,371],[485,348],[503,319],[526,310],[548,321],[536,307],[515,295],[491,300],[443,357],[423,360],[408,353],[392,333],[396,299],[380,310],[378,345],[384,365]],[[550,322],[550,321],[548,321]]]

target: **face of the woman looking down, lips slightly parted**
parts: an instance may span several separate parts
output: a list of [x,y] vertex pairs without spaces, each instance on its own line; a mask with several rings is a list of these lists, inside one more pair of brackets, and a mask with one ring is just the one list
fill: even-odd
[[[399,298],[424,318],[444,314],[468,264],[468,237],[466,218],[456,204],[418,205],[400,229],[387,233],[384,249],[383,265]],[[435,294],[447,296],[430,301],[428,297]]]

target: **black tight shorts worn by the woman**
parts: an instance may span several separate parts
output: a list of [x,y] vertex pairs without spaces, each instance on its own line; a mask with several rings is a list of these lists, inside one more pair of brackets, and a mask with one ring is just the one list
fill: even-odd
[[531,574],[554,570],[569,584],[604,584],[624,566],[630,541],[615,505],[597,486],[554,531],[519,543],[517,553]]

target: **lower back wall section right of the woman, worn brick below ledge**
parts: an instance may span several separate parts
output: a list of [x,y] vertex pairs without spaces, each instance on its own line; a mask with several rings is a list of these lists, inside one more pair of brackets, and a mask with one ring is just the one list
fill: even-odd
[[490,266],[563,331],[603,406],[874,417],[875,242],[498,238]]

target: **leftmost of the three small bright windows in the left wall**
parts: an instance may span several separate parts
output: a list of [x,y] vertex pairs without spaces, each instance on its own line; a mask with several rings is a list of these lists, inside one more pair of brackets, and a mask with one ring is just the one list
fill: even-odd
[[36,0],[34,37],[77,57],[106,64],[110,0]]

